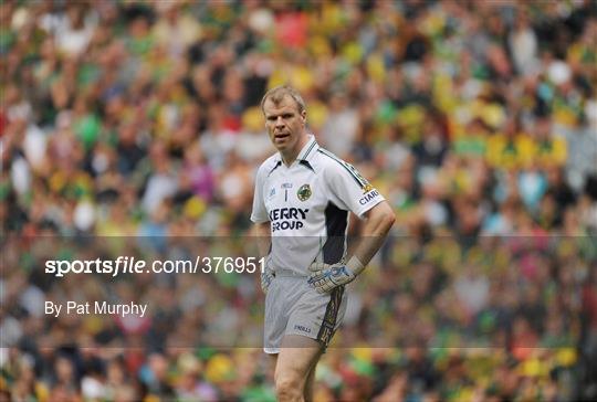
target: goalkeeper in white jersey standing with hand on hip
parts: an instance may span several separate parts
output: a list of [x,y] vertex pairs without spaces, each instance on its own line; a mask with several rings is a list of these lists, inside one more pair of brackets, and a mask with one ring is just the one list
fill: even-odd
[[[261,277],[265,293],[264,351],[275,361],[281,401],[311,401],[315,367],[346,309],[344,285],[363,272],[394,224],[391,208],[349,163],[321,148],[306,131],[306,107],[290,86],[261,102],[279,152],[259,168],[251,221],[270,251]],[[349,212],[365,221],[346,255]]]

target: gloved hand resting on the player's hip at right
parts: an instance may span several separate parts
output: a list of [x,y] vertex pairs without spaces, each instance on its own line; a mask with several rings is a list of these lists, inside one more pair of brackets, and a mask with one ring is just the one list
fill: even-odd
[[328,265],[324,263],[313,263],[308,267],[311,275],[308,284],[317,293],[329,293],[334,287],[346,285],[353,282],[365,266],[353,256],[346,264]]

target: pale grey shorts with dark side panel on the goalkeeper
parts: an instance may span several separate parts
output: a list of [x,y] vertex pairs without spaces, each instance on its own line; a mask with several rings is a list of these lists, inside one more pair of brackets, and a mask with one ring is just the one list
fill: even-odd
[[277,273],[265,295],[263,350],[279,353],[285,335],[301,335],[325,347],[346,311],[344,286],[327,295],[308,286],[306,276]]

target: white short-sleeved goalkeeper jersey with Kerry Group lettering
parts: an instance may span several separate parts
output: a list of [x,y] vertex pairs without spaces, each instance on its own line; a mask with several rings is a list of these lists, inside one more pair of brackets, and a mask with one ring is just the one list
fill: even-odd
[[335,264],[345,257],[349,211],[362,218],[381,201],[350,163],[311,135],[290,167],[280,154],[260,166],[251,221],[270,222],[269,265],[306,276],[314,261]]

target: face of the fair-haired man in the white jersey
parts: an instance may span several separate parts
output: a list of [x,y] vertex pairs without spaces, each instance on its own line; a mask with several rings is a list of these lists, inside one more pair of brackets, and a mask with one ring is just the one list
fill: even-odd
[[265,100],[263,114],[274,147],[283,156],[296,157],[302,146],[301,138],[305,135],[306,113],[298,113],[296,102],[286,95],[279,104]]

